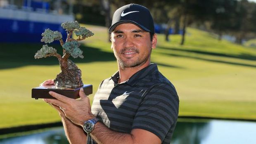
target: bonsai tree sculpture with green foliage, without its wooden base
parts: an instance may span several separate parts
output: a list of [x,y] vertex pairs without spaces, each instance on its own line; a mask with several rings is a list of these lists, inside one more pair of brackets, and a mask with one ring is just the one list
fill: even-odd
[[[55,78],[55,87],[57,88],[77,88],[83,86],[81,79],[81,70],[74,64],[69,57],[73,58],[83,58],[83,51],[79,48],[78,41],[88,38],[94,33],[81,27],[77,21],[70,21],[61,24],[61,26],[67,32],[66,42],[62,40],[62,34],[59,31],[51,31],[49,28],[42,33],[43,38],[41,42],[51,43],[54,40],[59,40],[60,45],[63,48],[63,56],[57,53],[57,50],[48,45],[43,45],[43,47],[38,50],[35,55],[35,59],[40,59],[43,57],[54,56],[59,60],[60,73]],[[78,36],[78,39],[71,38],[72,33]]]

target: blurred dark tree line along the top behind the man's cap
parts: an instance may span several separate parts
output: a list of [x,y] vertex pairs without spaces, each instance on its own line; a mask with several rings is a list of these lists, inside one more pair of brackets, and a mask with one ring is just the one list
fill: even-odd
[[[236,38],[235,42],[242,44],[243,40],[256,36],[256,3],[248,0],[74,0],[74,13],[85,14],[86,9],[98,14],[106,27],[111,25],[114,11],[126,4],[137,3],[147,7],[156,24],[166,25],[166,40],[169,39],[169,28],[178,34],[182,30],[180,44],[185,42],[187,26],[193,26],[205,31]],[[87,13],[88,17],[91,16]],[[83,17],[88,21],[88,17]],[[80,21],[83,21],[81,18]],[[92,17],[91,17],[92,18]],[[89,18],[90,19],[90,18]],[[78,19],[79,20],[79,19]],[[102,24],[101,23],[101,24]]]

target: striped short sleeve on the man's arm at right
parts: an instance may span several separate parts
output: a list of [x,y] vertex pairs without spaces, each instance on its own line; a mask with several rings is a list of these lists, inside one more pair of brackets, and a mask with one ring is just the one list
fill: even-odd
[[132,129],[147,130],[163,142],[172,135],[178,118],[179,99],[169,83],[156,84],[147,90],[133,121]]

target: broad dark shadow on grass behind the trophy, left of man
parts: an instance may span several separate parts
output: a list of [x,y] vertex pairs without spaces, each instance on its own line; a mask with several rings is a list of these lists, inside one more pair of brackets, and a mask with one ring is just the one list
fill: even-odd
[[[17,68],[20,66],[29,65],[58,65],[59,61],[56,57],[47,57],[42,59],[35,59],[34,55],[43,44],[3,44],[1,43],[0,52],[0,69],[5,68]],[[58,44],[49,45],[57,50],[62,55],[62,48]],[[116,61],[112,52],[103,52],[100,49],[94,47],[80,46],[83,50],[84,58],[73,59],[69,57],[75,63],[88,63],[94,61]]]

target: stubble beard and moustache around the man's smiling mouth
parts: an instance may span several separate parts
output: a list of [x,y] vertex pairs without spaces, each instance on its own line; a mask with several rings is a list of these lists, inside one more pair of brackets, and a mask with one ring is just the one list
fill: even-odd
[[[135,52],[139,52],[136,48],[128,48],[132,49]],[[147,60],[150,57],[151,51],[147,55],[143,55],[142,57],[138,57],[135,61],[123,61],[121,59],[121,54],[125,52],[127,49],[121,50],[120,54],[117,54],[117,52],[114,52],[114,55],[116,57],[117,63],[121,69],[125,68],[132,68],[132,67],[137,67],[137,66],[142,66],[147,62]]]

